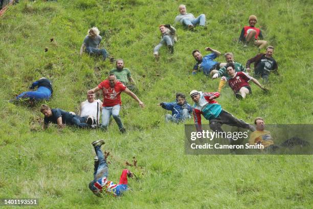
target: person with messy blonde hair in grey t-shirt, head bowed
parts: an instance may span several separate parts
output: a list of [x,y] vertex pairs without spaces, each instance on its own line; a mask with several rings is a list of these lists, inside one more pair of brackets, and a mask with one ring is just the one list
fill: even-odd
[[[79,55],[81,56],[83,51],[89,55],[102,55],[103,60],[108,57],[108,53],[105,49],[100,49],[100,43],[102,37],[99,35],[100,31],[97,27],[93,27],[88,30],[86,37],[81,45]],[[84,50],[85,49],[85,50]]]

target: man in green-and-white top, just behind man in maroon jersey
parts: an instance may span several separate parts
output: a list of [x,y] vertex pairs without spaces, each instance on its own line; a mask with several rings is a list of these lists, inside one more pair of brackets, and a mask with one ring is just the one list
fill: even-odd
[[[234,61],[234,54],[231,52],[225,53],[224,54],[226,62],[227,63],[233,63],[235,66],[235,71],[236,72],[245,72],[245,68],[238,62]],[[229,80],[229,75],[226,72],[226,67],[223,66],[221,67],[217,73],[215,73],[212,78],[218,78],[221,77],[220,81],[219,81],[219,85],[218,85],[218,92],[221,92],[221,89],[225,86],[226,82]]]

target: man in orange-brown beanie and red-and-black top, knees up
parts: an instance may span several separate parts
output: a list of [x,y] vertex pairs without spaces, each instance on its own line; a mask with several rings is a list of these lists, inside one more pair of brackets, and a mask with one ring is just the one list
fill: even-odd
[[254,45],[262,49],[266,46],[266,40],[259,40],[259,38],[263,39],[262,31],[259,28],[256,28],[255,25],[257,23],[257,17],[255,15],[249,16],[249,26],[244,26],[241,30],[241,34],[239,37],[239,41],[244,43],[243,47],[247,47],[247,45],[253,41]]

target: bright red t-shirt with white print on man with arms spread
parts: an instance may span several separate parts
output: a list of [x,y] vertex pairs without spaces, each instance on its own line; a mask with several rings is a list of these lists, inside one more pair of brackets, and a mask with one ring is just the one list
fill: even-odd
[[110,87],[109,80],[103,80],[99,85],[99,89],[103,92],[103,107],[113,107],[115,105],[122,105],[121,93],[126,89],[123,83],[117,81],[114,88]]

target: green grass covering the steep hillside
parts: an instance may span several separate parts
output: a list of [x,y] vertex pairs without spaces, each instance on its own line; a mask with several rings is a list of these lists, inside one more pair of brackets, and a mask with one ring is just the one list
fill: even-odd
[[[280,76],[271,76],[269,95],[252,85],[253,95],[237,101],[225,88],[218,102],[236,117],[253,123],[312,123],[312,3],[310,1],[190,1],[187,11],[205,13],[208,29],[177,29],[175,53],[161,50],[158,26],[173,24],[177,1],[23,1],[0,21],[0,198],[39,198],[39,208],[311,208],[312,156],[185,155],[184,125],[166,124],[161,101],[175,92],[215,91],[218,80],[191,76],[193,49],[207,46],[231,51],[245,64],[257,48],[233,41],[250,14],[275,46]],[[78,56],[87,29],[97,26],[102,46],[123,58],[139,87],[146,108],[122,94],[121,116],[126,135],[115,121],[109,131],[50,127],[41,131],[42,114],[35,107],[7,100],[27,90],[32,81],[48,77],[52,108],[78,110],[88,89],[114,67],[108,61]],[[55,42],[50,43],[50,38]],[[49,51],[44,52],[48,47]],[[222,56],[218,61],[225,61]],[[99,68],[100,71],[95,70]],[[191,102],[190,99],[188,99]],[[35,122],[34,122],[35,121]],[[192,123],[192,120],[189,121]],[[206,122],[207,123],[207,122]],[[106,141],[109,179],[117,181],[133,156],[142,168],[130,168],[141,179],[129,180],[131,191],[121,198],[98,198],[88,190],[93,174],[90,142]]]

